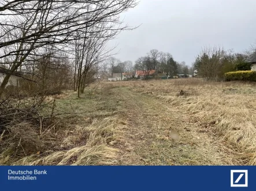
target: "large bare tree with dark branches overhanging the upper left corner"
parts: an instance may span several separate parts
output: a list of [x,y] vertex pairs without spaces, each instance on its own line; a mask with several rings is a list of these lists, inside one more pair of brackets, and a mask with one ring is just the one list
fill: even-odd
[[0,2],[0,58],[4,58],[2,64],[11,65],[0,86],[0,96],[10,75],[40,48],[55,44],[56,49],[64,50],[81,37],[76,32],[102,22],[112,24],[112,30],[130,29],[120,25],[119,14],[134,6],[135,0]]

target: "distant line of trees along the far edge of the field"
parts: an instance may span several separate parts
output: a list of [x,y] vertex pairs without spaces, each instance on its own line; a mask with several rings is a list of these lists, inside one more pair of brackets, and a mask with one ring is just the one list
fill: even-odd
[[[188,66],[185,62],[177,62],[169,52],[161,52],[157,49],[151,49],[146,56],[142,56],[132,62],[121,62],[114,57],[106,62],[106,67],[110,74],[143,71],[144,78],[149,78],[149,71],[155,70],[168,75],[169,78],[175,77],[177,74],[196,75],[197,77],[222,80],[224,74],[230,71],[251,70],[251,64],[246,62],[250,55],[250,51],[245,53],[237,53],[232,50],[225,50],[221,47],[205,47],[198,56],[192,66]],[[129,63],[129,70],[125,69]]]

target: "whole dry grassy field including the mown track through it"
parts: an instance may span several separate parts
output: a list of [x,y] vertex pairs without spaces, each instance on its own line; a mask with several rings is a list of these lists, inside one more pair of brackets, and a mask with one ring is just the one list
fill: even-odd
[[[2,165],[255,165],[254,83],[102,82],[55,98],[54,125]],[[172,139],[172,133],[179,140]],[[21,146],[23,144],[21,142]]]

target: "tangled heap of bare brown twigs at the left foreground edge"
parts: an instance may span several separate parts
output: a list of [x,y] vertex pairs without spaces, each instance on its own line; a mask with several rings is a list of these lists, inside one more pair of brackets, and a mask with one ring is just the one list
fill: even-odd
[[[0,103],[0,162],[18,159],[42,150],[43,132],[53,123],[45,96],[13,98]],[[47,112],[49,110],[49,112]],[[12,161],[12,160],[10,160]]]

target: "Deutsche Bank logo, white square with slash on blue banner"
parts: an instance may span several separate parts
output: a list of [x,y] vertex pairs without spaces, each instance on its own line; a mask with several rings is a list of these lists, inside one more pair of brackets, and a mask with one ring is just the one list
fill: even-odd
[[231,187],[248,187],[248,170],[231,170]]

